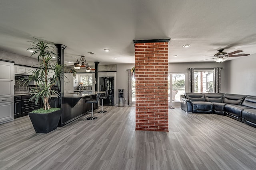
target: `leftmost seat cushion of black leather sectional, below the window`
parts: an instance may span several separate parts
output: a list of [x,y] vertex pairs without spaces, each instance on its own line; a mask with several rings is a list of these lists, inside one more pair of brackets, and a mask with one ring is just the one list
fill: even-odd
[[213,113],[213,103],[211,102],[192,102],[193,113]]

